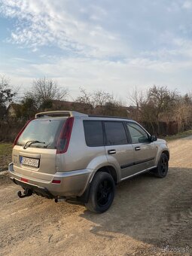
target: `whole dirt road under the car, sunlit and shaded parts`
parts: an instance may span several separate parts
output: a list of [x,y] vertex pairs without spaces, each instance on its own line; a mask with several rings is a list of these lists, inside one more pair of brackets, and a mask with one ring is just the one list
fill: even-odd
[[20,200],[19,187],[0,176],[0,255],[192,254],[191,146],[191,137],[169,142],[167,177],[124,181],[102,215],[38,196]]

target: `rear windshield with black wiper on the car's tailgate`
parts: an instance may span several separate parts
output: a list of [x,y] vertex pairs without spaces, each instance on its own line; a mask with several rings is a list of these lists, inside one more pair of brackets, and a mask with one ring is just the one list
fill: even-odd
[[[17,145],[30,148],[55,148],[57,139],[62,130],[62,126],[66,119],[35,119],[32,120],[21,134],[17,141]],[[31,142],[44,142],[32,143]],[[26,144],[26,142],[28,142]]]

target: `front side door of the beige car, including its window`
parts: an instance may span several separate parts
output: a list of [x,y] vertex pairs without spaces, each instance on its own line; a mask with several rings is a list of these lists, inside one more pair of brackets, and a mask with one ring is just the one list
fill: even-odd
[[148,133],[138,123],[133,122],[126,122],[126,129],[132,139],[135,172],[153,167],[157,148]]

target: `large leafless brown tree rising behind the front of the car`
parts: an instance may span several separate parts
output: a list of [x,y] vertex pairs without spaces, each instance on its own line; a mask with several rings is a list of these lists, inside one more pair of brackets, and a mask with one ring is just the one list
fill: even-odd
[[166,86],[154,85],[145,93],[135,87],[128,99],[134,106],[133,118],[142,123],[150,123],[153,133],[160,133],[160,122],[169,123],[173,120],[178,93],[168,90]]

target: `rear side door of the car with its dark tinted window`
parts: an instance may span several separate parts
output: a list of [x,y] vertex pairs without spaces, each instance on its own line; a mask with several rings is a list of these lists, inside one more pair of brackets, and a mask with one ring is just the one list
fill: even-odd
[[105,154],[108,163],[113,164],[120,172],[120,179],[132,175],[133,145],[127,137],[122,121],[103,121],[105,131]]

